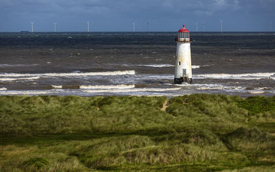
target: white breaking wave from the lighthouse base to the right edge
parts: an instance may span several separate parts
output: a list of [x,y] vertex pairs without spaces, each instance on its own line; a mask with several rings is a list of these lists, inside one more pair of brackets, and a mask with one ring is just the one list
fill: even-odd
[[253,73],[253,74],[197,74],[193,75],[194,78],[232,78],[232,79],[243,79],[243,80],[253,80],[261,78],[274,78],[275,73]]

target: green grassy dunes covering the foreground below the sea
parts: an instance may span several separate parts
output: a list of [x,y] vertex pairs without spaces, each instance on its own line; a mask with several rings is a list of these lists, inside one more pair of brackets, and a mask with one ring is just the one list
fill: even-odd
[[0,96],[0,171],[275,171],[275,97]]

